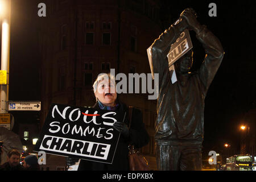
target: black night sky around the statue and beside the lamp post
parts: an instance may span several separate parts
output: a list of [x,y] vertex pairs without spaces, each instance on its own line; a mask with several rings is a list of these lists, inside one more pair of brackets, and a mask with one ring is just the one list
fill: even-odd
[[[159,2],[163,31],[186,7],[192,7],[199,22],[220,39],[225,56],[205,99],[203,151],[220,151],[225,142],[239,147],[241,131],[238,127],[243,115],[256,105],[255,1]],[[208,15],[211,2],[217,5],[217,17]],[[40,100],[38,30],[35,26],[39,22],[38,7],[33,0],[13,0],[12,9],[9,100]],[[205,53],[193,32],[191,37],[195,70]]]

